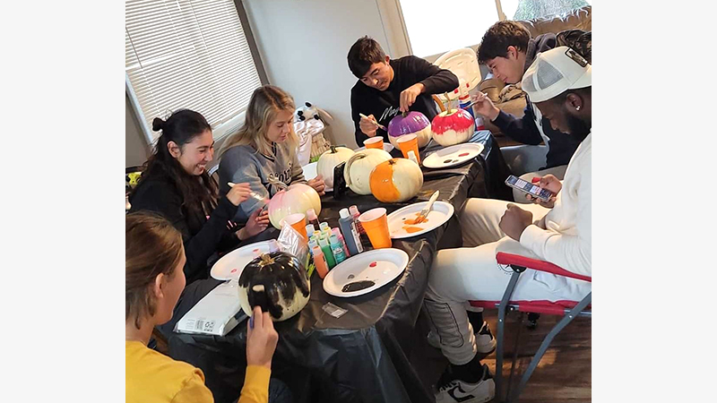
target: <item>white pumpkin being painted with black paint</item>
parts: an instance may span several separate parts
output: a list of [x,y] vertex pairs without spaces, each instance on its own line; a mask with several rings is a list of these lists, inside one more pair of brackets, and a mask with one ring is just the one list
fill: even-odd
[[246,264],[239,277],[239,304],[248,316],[252,306],[281,322],[301,311],[311,291],[307,270],[298,257],[286,252],[262,253]]

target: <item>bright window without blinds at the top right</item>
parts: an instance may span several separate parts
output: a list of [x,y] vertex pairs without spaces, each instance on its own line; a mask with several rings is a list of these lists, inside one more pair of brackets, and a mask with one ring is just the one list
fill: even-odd
[[428,57],[478,45],[496,21],[549,17],[592,4],[592,0],[457,0],[440,6],[435,0],[400,3],[413,55]]

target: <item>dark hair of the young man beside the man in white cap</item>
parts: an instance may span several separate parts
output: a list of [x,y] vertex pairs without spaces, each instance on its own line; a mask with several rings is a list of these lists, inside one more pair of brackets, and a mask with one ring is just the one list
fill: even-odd
[[515,47],[519,51],[528,50],[531,32],[515,21],[497,21],[493,24],[480,41],[478,47],[479,64],[487,64],[488,60],[496,57],[506,57],[508,47]]

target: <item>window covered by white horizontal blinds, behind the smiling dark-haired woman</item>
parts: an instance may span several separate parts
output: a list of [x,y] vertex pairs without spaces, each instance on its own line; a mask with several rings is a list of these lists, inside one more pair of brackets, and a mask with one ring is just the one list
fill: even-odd
[[214,138],[244,120],[261,85],[234,0],[126,0],[127,91],[150,141],[151,121],[190,108]]

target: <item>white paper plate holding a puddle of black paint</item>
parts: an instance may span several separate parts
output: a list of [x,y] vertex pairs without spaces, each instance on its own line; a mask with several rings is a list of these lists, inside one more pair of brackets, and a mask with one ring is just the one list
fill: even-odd
[[[363,296],[399,277],[409,264],[408,253],[401,249],[374,249],[358,253],[339,263],[324,278],[324,290],[332,296]],[[371,287],[356,291],[342,291],[347,284],[371,280]]]

